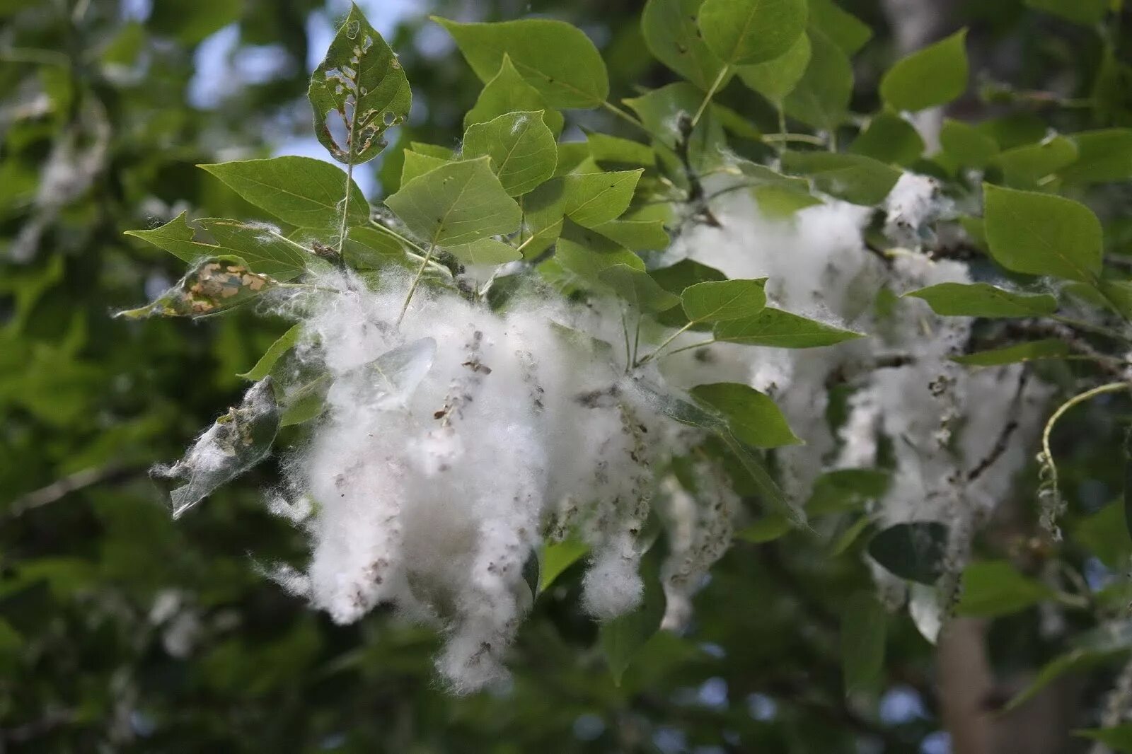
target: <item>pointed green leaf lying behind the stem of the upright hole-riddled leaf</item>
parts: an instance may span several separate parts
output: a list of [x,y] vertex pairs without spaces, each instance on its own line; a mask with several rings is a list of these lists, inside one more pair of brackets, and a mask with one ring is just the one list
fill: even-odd
[[[272,157],[197,165],[241,197],[299,228],[337,229],[342,222],[346,175],[340,168],[311,157]],[[350,181],[348,225],[369,221],[369,204]]]

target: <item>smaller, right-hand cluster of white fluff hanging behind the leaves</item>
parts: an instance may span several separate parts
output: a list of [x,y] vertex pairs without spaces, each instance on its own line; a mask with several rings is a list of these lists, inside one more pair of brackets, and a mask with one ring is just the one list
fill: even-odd
[[[877,254],[863,240],[867,208],[830,199],[770,219],[749,196],[720,196],[713,213],[721,228],[696,226],[674,245],[669,260],[692,258],[729,277],[770,277],[771,305],[869,337],[808,350],[720,343],[674,357],[668,376],[688,384],[706,360],[718,378],[772,395],[806,443],[777,452],[796,499],[805,499],[824,470],[876,465],[881,438],[891,440],[893,480],[874,515],[882,523],[946,524],[953,576],[975,526],[1026,463],[1048,388],[1023,382],[1019,366],[971,369],[951,361],[967,345],[970,318],[936,316],[914,298],[894,299],[893,311],[877,314],[882,289],[899,297],[971,282],[966,263],[933,260],[921,250],[933,240],[931,224],[952,212],[933,179],[906,173],[886,211],[893,248]],[[687,369],[694,371],[680,374]],[[833,429],[825,417],[830,387],[844,383],[852,388],[850,411]],[[946,599],[953,584],[943,586]]]

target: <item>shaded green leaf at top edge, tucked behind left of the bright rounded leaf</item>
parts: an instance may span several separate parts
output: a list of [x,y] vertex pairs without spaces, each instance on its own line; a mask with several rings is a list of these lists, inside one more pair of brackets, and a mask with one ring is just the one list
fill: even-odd
[[723,61],[700,35],[696,19],[703,1],[649,0],[641,15],[641,33],[657,60],[706,91],[723,69]]

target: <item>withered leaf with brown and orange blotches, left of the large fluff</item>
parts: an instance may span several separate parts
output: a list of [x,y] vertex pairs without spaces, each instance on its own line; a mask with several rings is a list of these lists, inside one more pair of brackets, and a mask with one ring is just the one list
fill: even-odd
[[139,309],[119,311],[115,317],[207,317],[247,303],[277,283],[251,272],[237,257],[213,257],[198,263],[173,288]]

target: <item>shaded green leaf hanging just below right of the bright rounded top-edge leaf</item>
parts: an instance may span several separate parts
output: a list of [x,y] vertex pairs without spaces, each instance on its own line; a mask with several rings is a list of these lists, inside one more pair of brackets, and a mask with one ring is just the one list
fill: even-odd
[[822,32],[809,29],[809,63],[782,101],[791,118],[821,130],[833,130],[849,114],[852,66],[849,55]]

